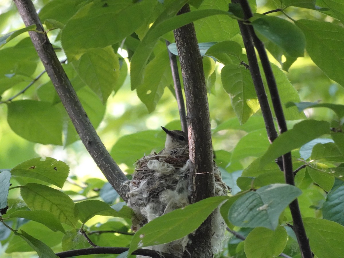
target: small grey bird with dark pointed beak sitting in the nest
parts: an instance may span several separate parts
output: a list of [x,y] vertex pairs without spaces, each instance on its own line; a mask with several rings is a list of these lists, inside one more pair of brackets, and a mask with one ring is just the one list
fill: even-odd
[[165,127],[161,127],[166,133],[165,149],[158,154],[174,154],[176,149],[188,149],[189,139],[187,133],[179,130],[170,131]]

